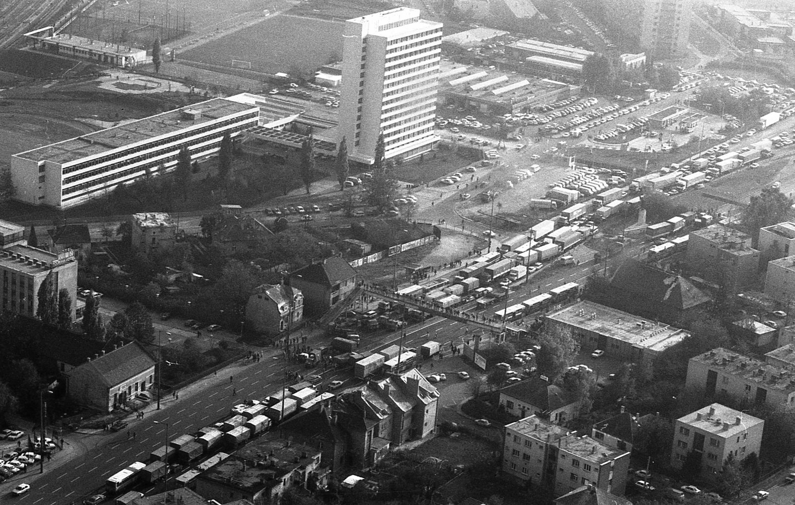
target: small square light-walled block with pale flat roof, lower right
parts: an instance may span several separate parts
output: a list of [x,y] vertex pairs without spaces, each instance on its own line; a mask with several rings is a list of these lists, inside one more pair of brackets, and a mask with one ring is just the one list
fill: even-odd
[[720,403],[677,419],[673,432],[671,466],[681,468],[689,453],[700,458],[704,478],[714,480],[729,457],[743,461],[759,455],[765,422]]

